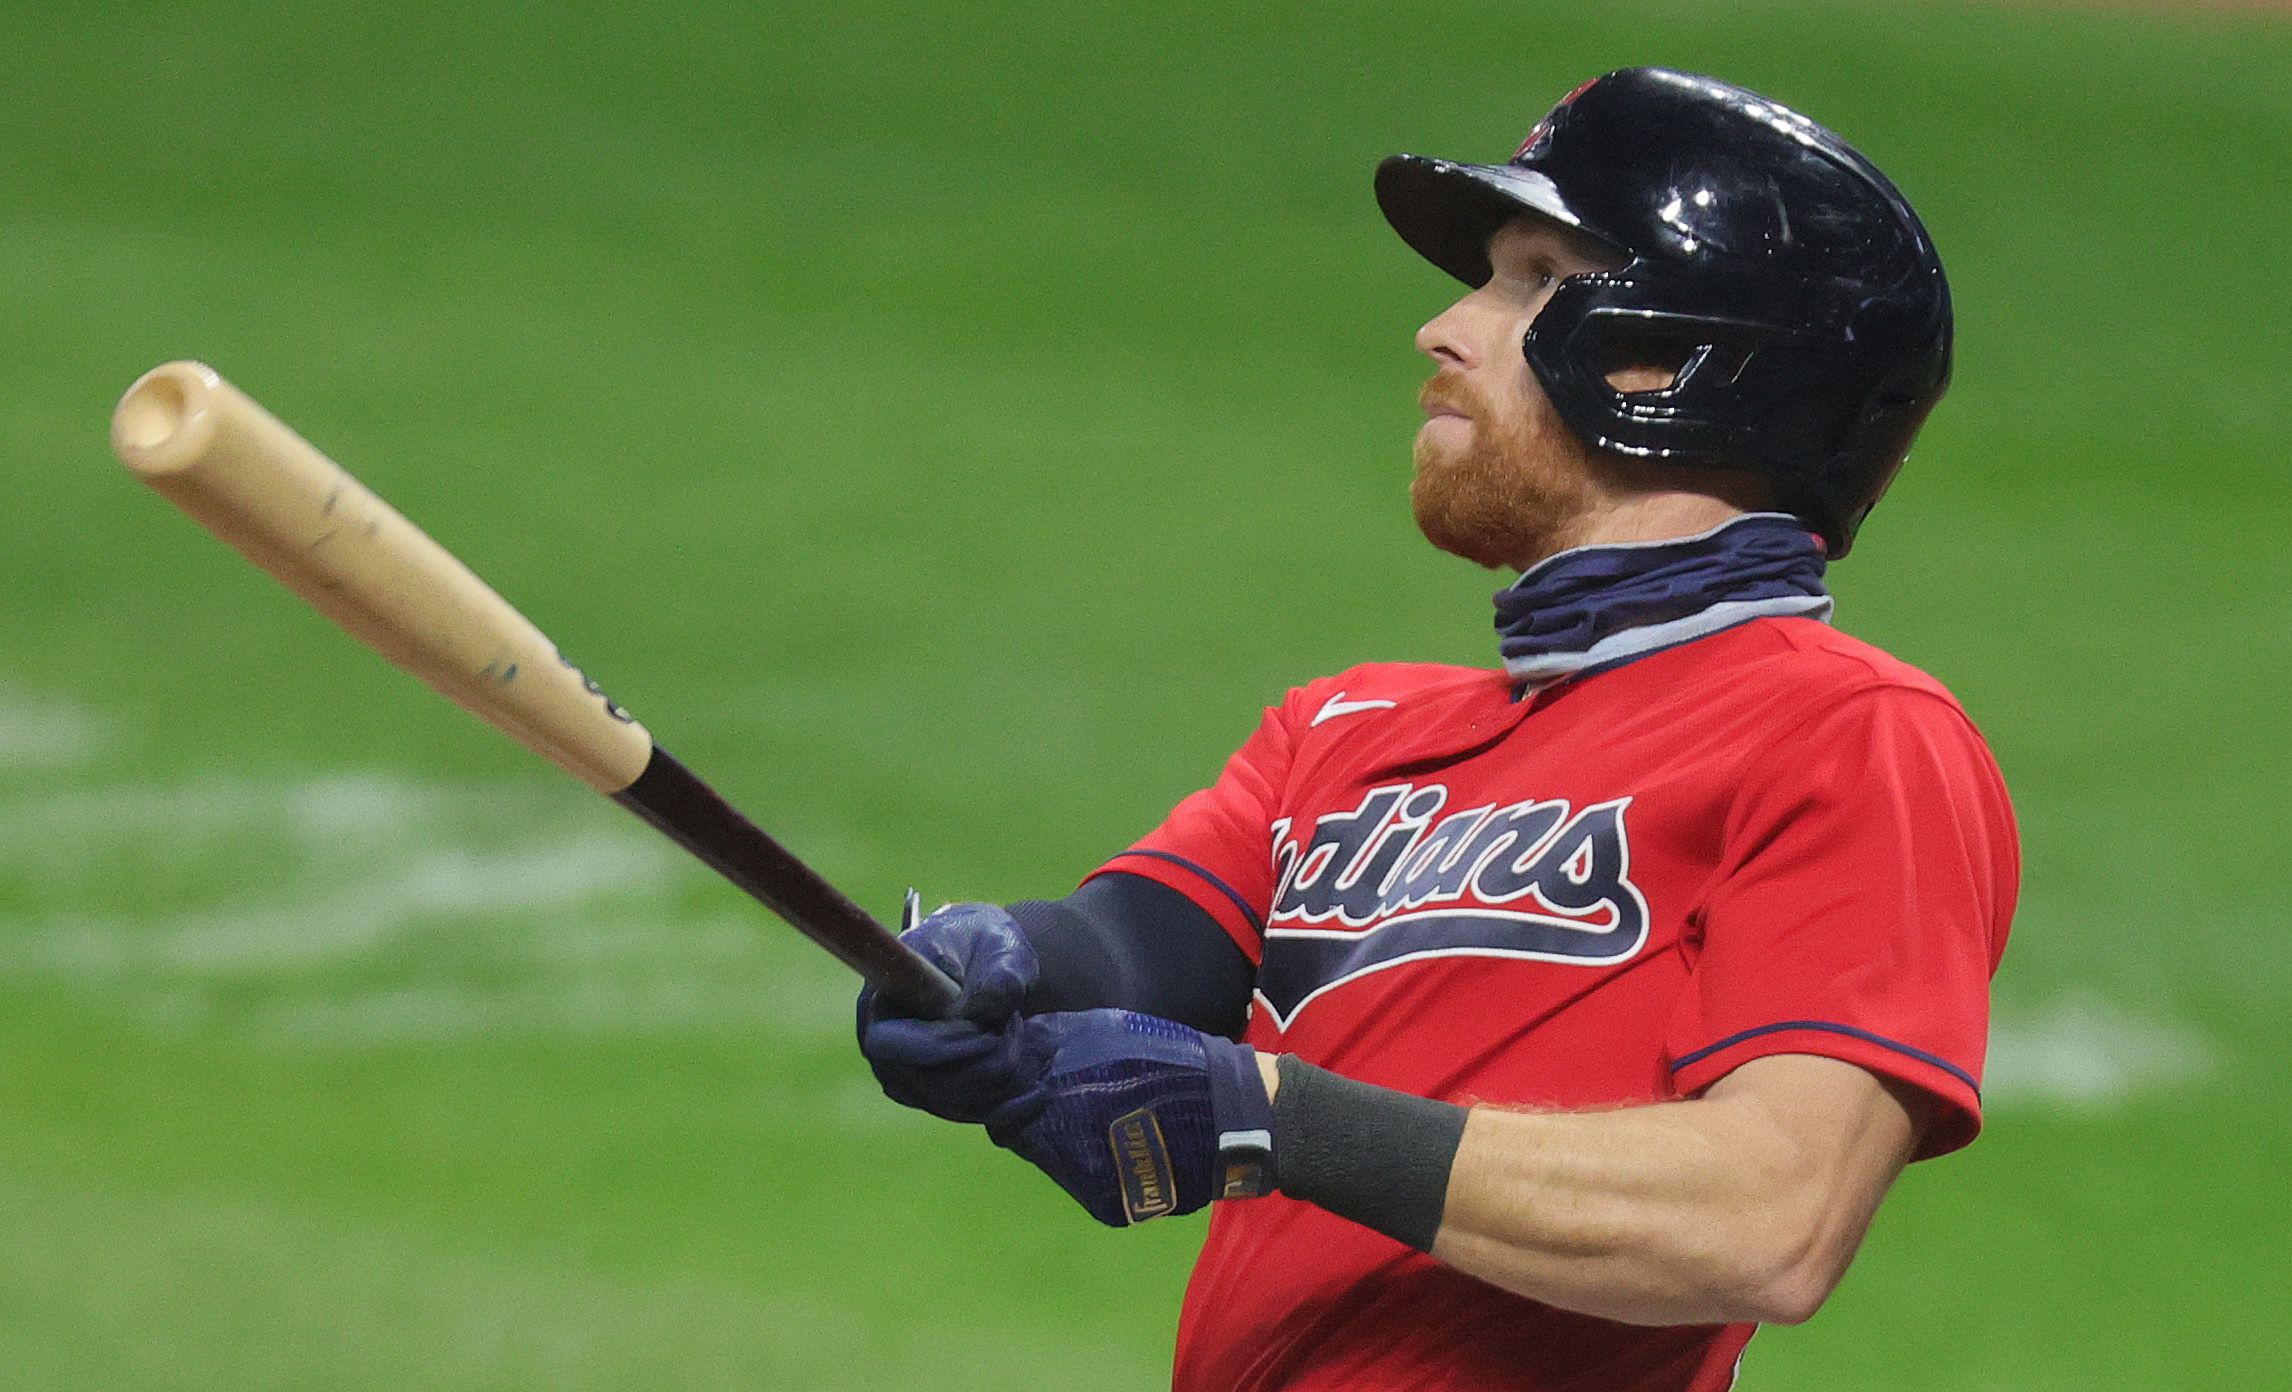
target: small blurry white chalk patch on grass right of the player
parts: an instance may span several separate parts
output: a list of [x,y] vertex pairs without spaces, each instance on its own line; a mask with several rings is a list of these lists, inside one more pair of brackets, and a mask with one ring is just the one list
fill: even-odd
[[2216,1071],[2219,1055],[2205,1039],[2077,993],[1989,1027],[1983,1101],[2111,1110],[2200,1085]]

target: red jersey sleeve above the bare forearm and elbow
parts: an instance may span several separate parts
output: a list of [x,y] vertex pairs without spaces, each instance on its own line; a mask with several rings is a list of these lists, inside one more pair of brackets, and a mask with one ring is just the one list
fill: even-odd
[[1666,1037],[1680,1094],[1756,1057],[1824,1055],[1941,1103],[1918,1158],[1967,1144],[2017,892],[2005,784],[1955,702],[1866,688],[1785,732],[1696,910]]

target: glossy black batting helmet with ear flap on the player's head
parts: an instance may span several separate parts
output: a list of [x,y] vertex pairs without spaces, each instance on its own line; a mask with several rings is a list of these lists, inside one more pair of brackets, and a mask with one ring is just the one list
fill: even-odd
[[[1611,245],[1625,266],[1563,280],[1524,342],[1561,420],[1602,449],[1763,472],[1831,555],[1950,381],[1950,287],[1909,202],[1831,131],[1714,78],[1595,78],[1504,165],[1396,154],[1377,206],[1474,287],[1522,213]],[[1678,376],[1609,385],[1634,365]]]

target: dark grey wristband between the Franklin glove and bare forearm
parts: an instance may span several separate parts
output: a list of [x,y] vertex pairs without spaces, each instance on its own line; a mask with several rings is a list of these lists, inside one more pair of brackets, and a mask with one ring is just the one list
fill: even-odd
[[1274,1176],[1284,1195],[1432,1250],[1465,1108],[1274,1059]]

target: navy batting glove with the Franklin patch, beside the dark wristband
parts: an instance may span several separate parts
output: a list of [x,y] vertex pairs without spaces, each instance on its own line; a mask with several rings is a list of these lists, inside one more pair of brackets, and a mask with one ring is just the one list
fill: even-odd
[[1272,1192],[1274,1108],[1245,1043],[1118,1009],[1020,1018],[1022,1094],[986,1119],[995,1144],[1123,1227]]

